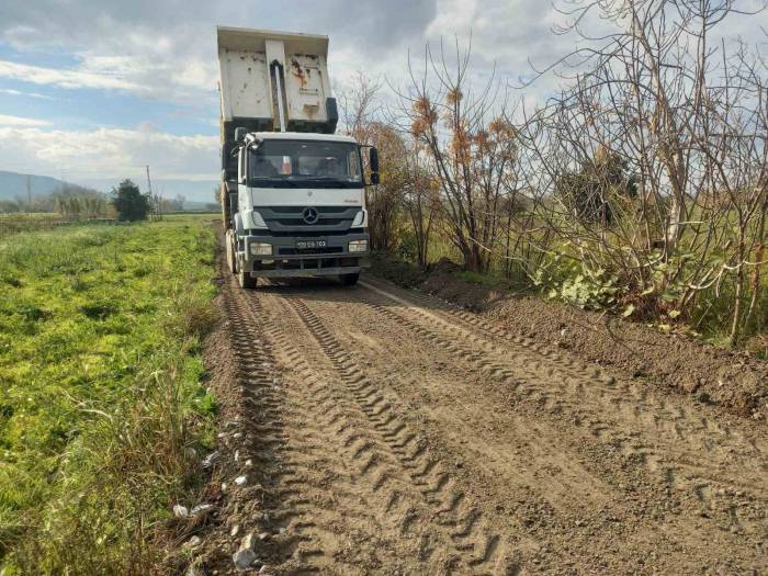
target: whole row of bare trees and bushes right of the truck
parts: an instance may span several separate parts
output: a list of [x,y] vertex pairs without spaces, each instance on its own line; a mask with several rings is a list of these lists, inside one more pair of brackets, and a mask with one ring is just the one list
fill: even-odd
[[447,242],[467,270],[584,307],[732,346],[763,334],[768,34],[724,41],[743,15],[729,0],[569,7],[558,32],[580,47],[537,105],[482,82],[459,41],[427,46],[405,87],[360,75],[341,95],[347,131],[382,151],[373,247],[426,267]]

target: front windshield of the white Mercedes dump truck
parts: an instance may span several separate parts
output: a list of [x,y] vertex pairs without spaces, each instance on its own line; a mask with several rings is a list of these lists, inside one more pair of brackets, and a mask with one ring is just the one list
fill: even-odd
[[263,140],[250,153],[250,185],[260,188],[361,188],[357,144]]

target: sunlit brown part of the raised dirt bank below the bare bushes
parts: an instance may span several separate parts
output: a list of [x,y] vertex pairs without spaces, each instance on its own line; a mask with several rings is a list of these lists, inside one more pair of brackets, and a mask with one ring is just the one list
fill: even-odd
[[768,402],[768,366],[744,353],[529,297],[504,300],[484,315],[585,360],[694,394],[700,402],[720,404],[742,416],[758,413]]

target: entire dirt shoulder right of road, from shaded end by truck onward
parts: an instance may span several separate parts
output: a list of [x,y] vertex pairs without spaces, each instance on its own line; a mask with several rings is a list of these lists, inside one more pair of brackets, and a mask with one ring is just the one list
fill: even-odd
[[650,386],[691,394],[699,402],[765,421],[768,363],[691,337],[530,296],[504,286],[467,282],[445,263],[427,273],[404,263],[376,261],[370,274],[474,310],[508,330],[569,350]]

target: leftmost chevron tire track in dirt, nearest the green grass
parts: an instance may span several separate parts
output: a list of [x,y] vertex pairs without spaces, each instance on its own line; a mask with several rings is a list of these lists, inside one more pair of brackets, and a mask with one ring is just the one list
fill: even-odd
[[257,484],[248,488],[251,494],[244,495],[248,504],[238,516],[246,529],[275,532],[261,545],[260,560],[281,566],[285,574],[323,572],[334,564],[325,545],[337,538],[315,517],[317,509],[332,510],[334,502],[325,497],[327,479],[306,461],[328,462],[334,454],[310,432],[293,426],[276,377],[273,347],[252,305],[230,286],[225,308],[238,362],[238,384],[252,415],[245,422],[248,432],[237,460],[256,463],[247,470]]

